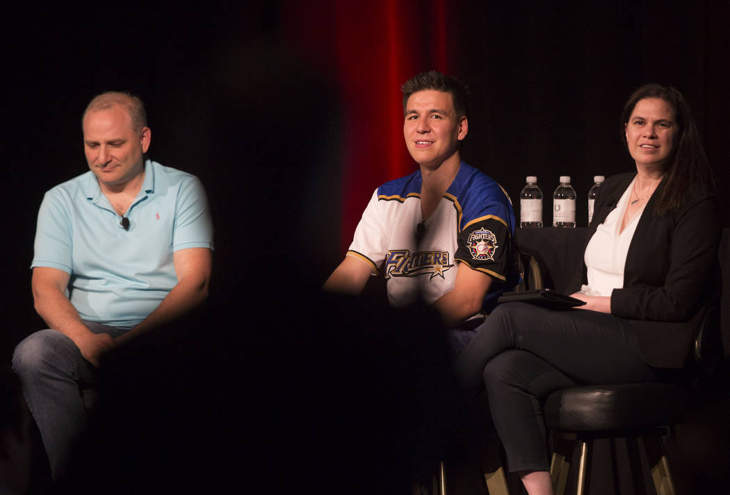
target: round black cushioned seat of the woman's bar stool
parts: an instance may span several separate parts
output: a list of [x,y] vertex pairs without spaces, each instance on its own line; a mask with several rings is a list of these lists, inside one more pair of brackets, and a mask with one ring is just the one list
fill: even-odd
[[669,426],[690,400],[672,383],[576,386],[554,391],[543,407],[550,430],[599,432]]

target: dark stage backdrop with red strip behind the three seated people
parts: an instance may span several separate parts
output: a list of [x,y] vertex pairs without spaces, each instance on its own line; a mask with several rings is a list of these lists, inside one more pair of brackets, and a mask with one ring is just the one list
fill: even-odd
[[[104,90],[141,96],[150,157],[206,186],[217,230],[212,296],[236,305],[238,332],[251,312],[281,311],[294,289],[321,284],[374,187],[413,169],[399,85],[418,71],[471,87],[464,160],[515,206],[524,177],[537,175],[546,224],[559,175],[572,176],[583,226],[593,175],[633,168],[619,115],[645,82],[688,98],[728,194],[727,2],[16,7],[0,34],[5,362],[42,327],[28,270],[37,208],[46,190],[87,169],[80,116]],[[727,201],[721,211],[730,227]]]

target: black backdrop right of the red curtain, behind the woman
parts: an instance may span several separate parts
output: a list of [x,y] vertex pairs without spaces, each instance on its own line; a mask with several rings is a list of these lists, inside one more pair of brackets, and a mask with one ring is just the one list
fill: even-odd
[[[578,225],[587,225],[593,176],[634,167],[621,109],[647,82],[688,99],[726,193],[727,2],[474,2],[462,14],[458,67],[476,89],[464,155],[498,177],[515,203],[524,176],[537,175],[549,199],[558,175],[570,175]],[[550,203],[543,211],[550,222]]]

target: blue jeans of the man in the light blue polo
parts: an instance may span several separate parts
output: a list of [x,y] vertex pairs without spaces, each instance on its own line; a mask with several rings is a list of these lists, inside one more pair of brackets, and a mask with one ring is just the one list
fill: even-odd
[[[113,338],[128,331],[84,323],[91,332]],[[41,433],[53,478],[63,478],[87,422],[80,391],[98,379],[98,370],[73,340],[50,329],[28,335],[15,347],[12,367]]]

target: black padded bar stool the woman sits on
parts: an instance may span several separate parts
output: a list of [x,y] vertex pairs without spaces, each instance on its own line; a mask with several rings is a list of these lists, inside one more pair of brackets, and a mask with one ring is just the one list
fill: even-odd
[[[689,372],[701,379],[712,373],[719,362],[722,346],[718,308],[703,308],[699,321],[702,323],[695,334]],[[593,440],[623,437],[629,451],[634,492],[646,493],[640,458],[643,447],[656,493],[674,495],[661,436],[681,421],[691,398],[691,383],[577,386],[550,394],[543,412],[555,447],[550,475],[556,494],[565,492],[573,456],[580,459],[575,493],[587,494]]]

